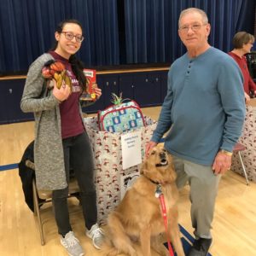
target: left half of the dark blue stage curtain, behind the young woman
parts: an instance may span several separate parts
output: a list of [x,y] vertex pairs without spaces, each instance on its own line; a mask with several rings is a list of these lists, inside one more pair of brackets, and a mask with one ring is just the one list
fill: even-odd
[[0,73],[26,72],[54,42],[56,25],[84,27],[79,57],[87,66],[119,64],[117,0],[1,0]]

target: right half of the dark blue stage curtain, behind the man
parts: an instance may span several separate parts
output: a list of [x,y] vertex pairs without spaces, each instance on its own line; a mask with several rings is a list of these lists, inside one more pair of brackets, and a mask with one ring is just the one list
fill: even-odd
[[125,0],[126,61],[172,62],[185,49],[177,35],[180,12],[206,11],[212,32],[209,43],[225,52],[238,31],[253,34],[254,0]]

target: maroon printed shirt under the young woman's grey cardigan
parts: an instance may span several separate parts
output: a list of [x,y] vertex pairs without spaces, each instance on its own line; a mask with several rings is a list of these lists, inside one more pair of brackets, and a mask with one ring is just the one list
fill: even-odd
[[67,75],[72,80],[73,85],[72,94],[67,98],[66,101],[61,102],[60,104],[61,136],[62,138],[77,136],[84,132],[84,125],[79,112],[79,96],[81,93],[79,81],[76,79],[72,71],[71,64],[67,59],[56,54],[55,51],[50,51],[49,54],[55,58],[55,61],[61,61],[65,65]]

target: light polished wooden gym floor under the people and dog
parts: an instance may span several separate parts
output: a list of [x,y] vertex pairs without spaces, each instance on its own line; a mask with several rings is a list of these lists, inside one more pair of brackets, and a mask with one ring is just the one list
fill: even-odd
[[[160,108],[145,108],[143,113],[157,119]],[[17,163],[33,139],[33,122],[0,125],[0,166]],[[189,188],[180,192],[180,224],[192,235],[189,218]],[[88,256],[104,255],[84,236],[84,222],[78,201],[70,200],[71,223]],[[44,207],[46,245],[40,244],[36,218],[26,207],[17,169],[0,172],[0,255],[67,255],[57,235],[51,207]],[[106,228],[106,227],[105,227]],[[212,223],[214,256],[256,255],[256,183],[246,185],[244,177],[228,172],[221,179],[215,218]],[[141,256],[146,256],[139,254]],[[158,255],[153,253],[153,256]]]

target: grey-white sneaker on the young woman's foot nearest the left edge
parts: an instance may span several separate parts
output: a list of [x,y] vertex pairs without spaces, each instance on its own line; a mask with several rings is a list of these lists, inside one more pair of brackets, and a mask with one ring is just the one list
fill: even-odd
[[79,239],[69,231],[66,236],[61,237],[61,245],[66,248],[69,256],[83,256],[84,250],[80,245]]

